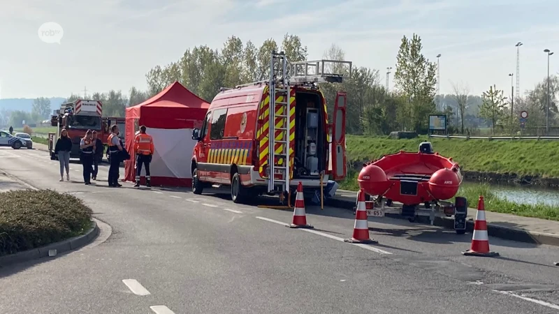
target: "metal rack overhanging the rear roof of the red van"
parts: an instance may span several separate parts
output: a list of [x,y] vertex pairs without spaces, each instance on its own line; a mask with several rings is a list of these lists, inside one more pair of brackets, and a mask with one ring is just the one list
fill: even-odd
[[[347,70],[348,76],[351,77],[351,61],[338,61],[338,60],[313,60],[313,61],[298,61],[291,62],[289,68],[291,83],[341,83],[344,79],[344,69],[349,66]],[[341,73],[334,73],[337,70]]]

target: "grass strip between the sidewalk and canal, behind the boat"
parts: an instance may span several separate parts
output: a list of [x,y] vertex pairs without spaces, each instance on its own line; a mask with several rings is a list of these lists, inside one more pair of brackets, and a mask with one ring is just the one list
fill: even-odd
[[[357,175],[358,173],[355,170],[349,170],[347,179],[340,182],[340,188],[343,190],[358,190]],[[542,203],[517,204],[509,200],[502,200],[491,192],[489,184],[463,184],[460,186],[457,195],[466,197],[471,208],[476,208],[479,195],[484,195],[486,211],[559,221],[558,207]]]

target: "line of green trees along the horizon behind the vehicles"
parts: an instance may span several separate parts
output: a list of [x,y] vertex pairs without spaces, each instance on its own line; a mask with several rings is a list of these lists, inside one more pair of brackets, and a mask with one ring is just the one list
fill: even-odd
[[[419,35],[402,37],[396,54],[393,90],[386,90],[379,70],[355,64],[351,77],[343,83],[321,83],[328,112],[333,111],[337,91],[346,91],[347,120],[356,121],[347,124],[349,134],[386,135],[394,130],[413,130],[424,134],[428,131],[429,114],[445,114],[450,133],[470,133],[479,128],[488,128],[493,133],[517,133],[522,110],[530,112],[526,128],[545,125],[546,81],[538,83],[520,97],[515,96],[512,108],[511,96],[496,86],[488,87],[481,95],[472,95],[467,84],[453,82],[451,94],[435,95],[437,65],[421,53],[422,48]],[[221,50],[200,45],[187,49],[177,61],[166,66],[154,66],[146,74],[146,91],[132,87],[128,94],[111,90],[94,93],[87,98],[103,102],[104,116],[124,117],[126,107],[142,103],[178,81],[211,102],[221,87],[266,80],[270,75],[272,51],[284,51],[289,61],[304,61],[308,57],[307,47],[293,34],[286,33],[281,43],[269,38],[259,47],[251,40],[243,43],[240,38],[231,36]],[[333,44],[322,57],[344,61],[345,52]],[[347,74],[347,68],[331,70]],[[550,84],[550,124],[553,126],[558,115],[558,87],[559,77],[553,75]],[[67,100],[78,98],[81,96],[72,94]],[[43,100],[37,101],[41,103]],[[50,109],[38,109],[37,112],[50,112]]]

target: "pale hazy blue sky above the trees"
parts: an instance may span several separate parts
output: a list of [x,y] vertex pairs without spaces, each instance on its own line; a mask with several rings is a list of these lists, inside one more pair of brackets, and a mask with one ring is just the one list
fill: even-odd
[[[402,36],[417,33],[430,61],[441,54],[442,94],[453,85],[509,91],[518,42],[521,91],[545,79],[544,49],[557,50],[550,71],[559,70],[556,0],[0,0],[0,8],[0,98],[146,89],[150,68],[198,45],[221,49],[232,35],[259,47],[293,33],[310,59],[335,44],[385,84]],[[41,41],[45,22],[61,26],[60,43]]]

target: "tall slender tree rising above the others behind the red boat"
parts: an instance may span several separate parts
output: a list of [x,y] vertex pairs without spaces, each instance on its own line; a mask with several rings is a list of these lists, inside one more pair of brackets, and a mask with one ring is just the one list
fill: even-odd
[[428,115],[435,110],[435,72],[437,66],[421,54],[421,38],[414,33],[412,39],[402,38],[400,50],[396,57],[394,73],[395,87],[407,97],[409,108],[405,110],[408,117],[402,120],[402,126],[408,121],[416,132],[427,129]]

